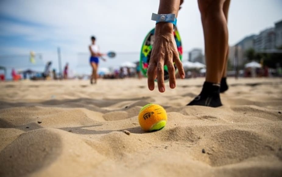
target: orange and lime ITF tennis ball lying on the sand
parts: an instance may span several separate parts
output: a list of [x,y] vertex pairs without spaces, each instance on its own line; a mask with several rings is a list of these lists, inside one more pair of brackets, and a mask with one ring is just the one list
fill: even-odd
[[145,131],[157,131],[167,123],[167,113],[158,104],[147,104],[141,108],[138,120],[141,128]]

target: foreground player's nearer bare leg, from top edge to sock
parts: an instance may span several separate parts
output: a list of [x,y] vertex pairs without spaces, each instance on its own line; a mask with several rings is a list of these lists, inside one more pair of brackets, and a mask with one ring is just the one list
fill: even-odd
[[223,74],[228,49],[224,2],[225,0],[198,0],[205,38],[206,81],[217,84]]

